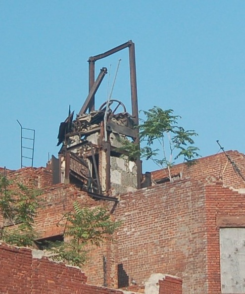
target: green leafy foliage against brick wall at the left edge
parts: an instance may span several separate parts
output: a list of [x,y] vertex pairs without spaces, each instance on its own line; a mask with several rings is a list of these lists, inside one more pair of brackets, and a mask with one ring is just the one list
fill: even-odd
[[0,175],[0,239],[8,244],[31,246],[37,238],[34,217],[40,191],[14,183]]

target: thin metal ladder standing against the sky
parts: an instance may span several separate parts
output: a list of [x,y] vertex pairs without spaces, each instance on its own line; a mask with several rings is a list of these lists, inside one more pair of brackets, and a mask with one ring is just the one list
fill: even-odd
[[20,149],[21,149],[20,166],[21,168],[27,167],[27,166],[33,167],[35,130],[23,128],[21,123],[18,120],[17,122],[20,125]]

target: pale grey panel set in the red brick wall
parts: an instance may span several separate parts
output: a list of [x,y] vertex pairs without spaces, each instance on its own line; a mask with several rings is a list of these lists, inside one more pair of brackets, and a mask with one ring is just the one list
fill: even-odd
[[245,228],[220,229],[221,293],[245,293]]

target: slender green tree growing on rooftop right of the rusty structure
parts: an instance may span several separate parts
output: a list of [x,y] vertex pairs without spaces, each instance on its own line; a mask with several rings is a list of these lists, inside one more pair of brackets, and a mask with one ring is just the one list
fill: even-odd
[[193,163],[199,156],[198,148],[194,146],[194,137],[197,133],[194,130],[185,130],[179,126],[179,115],[174,115],[172,109],[163,110],[154,106],[148,111],[143,111],[146,119],[141,119],[137,126],[140,134],[140,144],[133,144],[129,140],[121,140],[121,150],[126,150],[129,159],[136,159],[138,156],[151,159],[160,168],[168,168],[169,179],[171,177],[171,166],[179,157],[183,162]]

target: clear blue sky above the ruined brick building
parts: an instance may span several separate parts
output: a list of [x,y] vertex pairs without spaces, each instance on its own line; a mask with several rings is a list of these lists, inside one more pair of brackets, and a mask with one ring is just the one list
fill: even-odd
[[[174,109],[202,156],[219,150],[216,140],[245,152],[244,0],[0,0],[0,166],[20,167],[16,119],[36,130],[34,166],[57,156],[59,123],[88,95],[88,57],[128,40],[139,109]],[[128,50],[97,61],[96,76],[111,68],[112,83],[119,58],[112,98],[131,112]]]

